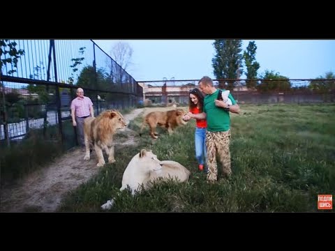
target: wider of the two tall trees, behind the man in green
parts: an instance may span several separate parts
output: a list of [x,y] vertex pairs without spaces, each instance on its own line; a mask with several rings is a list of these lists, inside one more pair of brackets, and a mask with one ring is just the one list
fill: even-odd
[[[240,39],[216,39],[213,43],[215,56],[211,60],[216,79],[238,79],[243,68]],[[227,81],[228,89],[234,87],[234,80]],[[224,88],[224,81],[219,81],[219,87]]]

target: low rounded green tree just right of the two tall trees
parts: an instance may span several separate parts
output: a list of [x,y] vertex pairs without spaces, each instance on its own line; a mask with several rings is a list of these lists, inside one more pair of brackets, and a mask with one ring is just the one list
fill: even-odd
[[274,73],[274,70],[265,70],[260,78],[262,82],[256,86],[259,91],[290,91],[291,83],[288,77]]

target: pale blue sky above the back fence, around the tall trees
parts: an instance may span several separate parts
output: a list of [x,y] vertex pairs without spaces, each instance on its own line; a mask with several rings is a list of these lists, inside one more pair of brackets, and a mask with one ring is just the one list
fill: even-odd
[[[245,50],[250,40],[242,40]],[[335,40],[254,40],[257,46],[258,74],[274,70],[290,79],[313,79],[335,73]],[[132,65],[126,69],[137,82],[213,79],[211,59],[214,40],[94,40],[110,54],[113,45],[128,43],[133,49]],[[244,68],[246,70],[246,68]],[[241,78],[245,78],[242,75]]]

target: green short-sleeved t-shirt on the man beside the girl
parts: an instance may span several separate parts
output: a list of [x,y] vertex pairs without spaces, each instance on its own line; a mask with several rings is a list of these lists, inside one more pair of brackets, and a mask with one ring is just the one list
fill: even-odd
[[[225,90],[223,89],[222,91]],[[204,112],[207,114],[207,130],[209,132],[225,132],[230,129],[229,112],[215,105],[214,101],[217,97],[218,89],[213,94],[204,97]],[[229,93],[228,98],[232,100],[232,105],[236,104],[231,93]]]

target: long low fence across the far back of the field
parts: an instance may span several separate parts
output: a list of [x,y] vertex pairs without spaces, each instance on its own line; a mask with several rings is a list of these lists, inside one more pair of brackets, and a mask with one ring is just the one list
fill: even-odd
[[[310,103],[334,102],[335,79],[255,79],[255,87],[248,87],[248,79],[214,79],[214,86],[226,89],[234,82],[232,96],[243,103]],[[188,104],[188,91],[198,86],[199,79],[139,82],[144,99],[151,104],[177,102]]]

